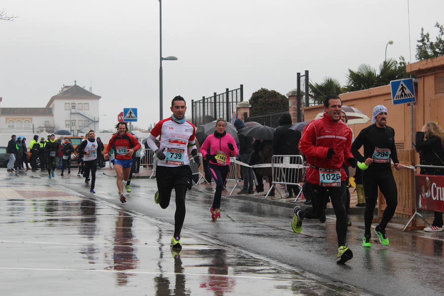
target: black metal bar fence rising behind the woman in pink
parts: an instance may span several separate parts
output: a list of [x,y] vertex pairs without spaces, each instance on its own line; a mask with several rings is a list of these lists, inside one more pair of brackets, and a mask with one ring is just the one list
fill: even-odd
[[229,90],[224,93],[214,93],[213,96],[201,100],[191,100],[191,121],[197,126],[223,118],[231,121],[233,112],[236,112],[236,105],[244,100],[244,88],[241,84],[239,88]]

